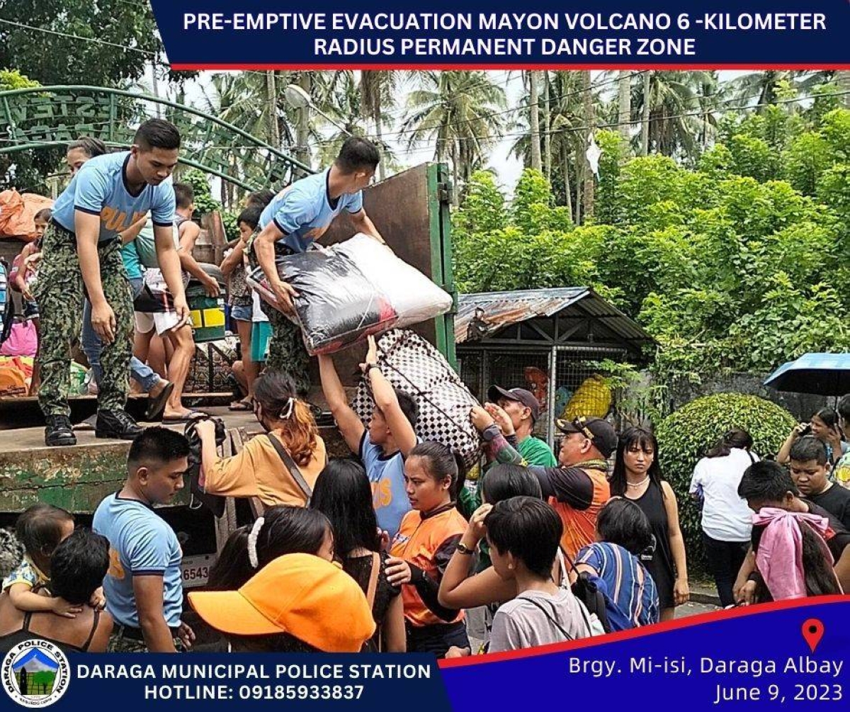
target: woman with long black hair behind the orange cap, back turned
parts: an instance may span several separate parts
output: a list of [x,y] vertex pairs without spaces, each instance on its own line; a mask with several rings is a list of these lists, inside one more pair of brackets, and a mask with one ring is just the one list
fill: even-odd
[[316,480],[310,507],[331,521],[336,533],[336,557],[363,589],[371,606],[377,630],[367,643],[367,650],[404,653],[401,589],[387,579],[388,554],[381,551],[371,485],[360,462],[350,458],[329,461]]

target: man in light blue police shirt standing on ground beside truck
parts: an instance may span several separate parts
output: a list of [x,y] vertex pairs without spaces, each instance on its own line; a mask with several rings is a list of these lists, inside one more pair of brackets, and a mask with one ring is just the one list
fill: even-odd
[[183,613],[183,553],[174,530],[154,511],[183,489],[189,441],[178,432],[149,427],[133,440],[127,481],[94,512],[92,528],[110,544],[104,579],[106,607],[116,622],[110,652],[174,653],[174,639],[190,645]]

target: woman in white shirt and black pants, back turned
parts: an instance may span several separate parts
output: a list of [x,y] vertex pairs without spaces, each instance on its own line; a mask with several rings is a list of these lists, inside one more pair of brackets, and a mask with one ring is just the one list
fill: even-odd
[[750,550],[752,512],[738,496],[744,471],[758,455],[741,428],[723,435],[694,467],[690,494],[702,502],[702,541],[723,607],[733,606],[735,577]]

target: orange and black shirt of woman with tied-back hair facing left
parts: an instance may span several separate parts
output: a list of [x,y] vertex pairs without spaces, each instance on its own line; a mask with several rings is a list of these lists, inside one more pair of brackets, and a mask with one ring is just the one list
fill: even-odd
[[[452,537],[460,537],[467,530],[464,519],[455,506],[428,516],[421,511],[409,511],[401,520],[399,533],[395,535],[390,553],[394,557],[411,562],[421,568],[426,576],[439,580],[439,567],[448,561],[439,562],[438,552]],[[405,604],[405,619],[420,628],[425,625],[445,625],[463,619],[459,611],[455,619],[446,621],[431,613],[416,591],[416,586],[405,584],[401,587],[401,597]]]

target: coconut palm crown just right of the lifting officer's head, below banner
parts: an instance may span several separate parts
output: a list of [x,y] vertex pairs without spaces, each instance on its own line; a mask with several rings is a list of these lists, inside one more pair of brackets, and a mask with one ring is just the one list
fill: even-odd
[[484,71],[424,71],[420,76],[420,87],[407,96],[399,133],[408,150],[433,143],[434,158],[450,161],[456,183],[465,183],[501,136],[505,90]]

